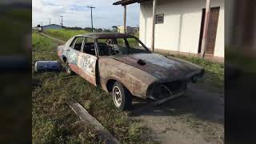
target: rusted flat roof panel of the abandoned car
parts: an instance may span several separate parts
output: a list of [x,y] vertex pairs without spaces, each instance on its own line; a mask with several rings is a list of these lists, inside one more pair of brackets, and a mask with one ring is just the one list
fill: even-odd
[[82,37],[90,37],[90,38],[134,38],[134,36],[130,34],[120,34],[120,33],[90,33],[90,34],[79,34]]

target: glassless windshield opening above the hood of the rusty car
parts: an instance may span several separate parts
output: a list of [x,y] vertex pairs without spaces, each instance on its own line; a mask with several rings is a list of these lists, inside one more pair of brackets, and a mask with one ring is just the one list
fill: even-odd
[[100,56],[150,53],[136,38],[100,38],[97,41]]

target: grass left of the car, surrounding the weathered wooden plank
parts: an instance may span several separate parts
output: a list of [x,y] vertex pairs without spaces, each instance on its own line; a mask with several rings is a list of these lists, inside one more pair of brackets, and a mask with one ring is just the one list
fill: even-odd
[[[153,143],[143,139],[145,129],[128,117],[127,112],[115,109],[112,98],[105,91],[92,86],[75,75],[67,78],[61,73],[34,73],[38,60],[59,60],[56,42],[32,35],[32,136],[34,143],[102,143],[93,128],[85,126],[67,106],[76,101],[98,119],[122,143]],[[54,52],[54,53],[53,53]]]

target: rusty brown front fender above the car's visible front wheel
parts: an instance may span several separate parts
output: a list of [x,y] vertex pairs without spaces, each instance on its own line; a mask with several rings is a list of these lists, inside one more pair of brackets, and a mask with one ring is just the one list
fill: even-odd
[[146,98],[148,86],[156,80],[154,76],[112,58],[99,58],[99,74],[106,90],[106,82],[110,79],[122,83],[134,96]]

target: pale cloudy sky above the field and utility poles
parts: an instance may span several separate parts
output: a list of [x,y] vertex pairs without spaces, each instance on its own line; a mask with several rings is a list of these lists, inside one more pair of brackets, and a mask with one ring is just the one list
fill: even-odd
[[[123,25],[123,6],[114,6],[117,0],[32,0],[32,26],[61,23],[64,26],[90,27],[90,8],[93,9],[94,28],[112,28]],[[128,5],[126,26],[139,25],[139,4]],[[51,18],[51,21],[49,20]],[[50,22],[49,22],[50,21]]]

